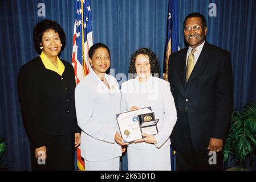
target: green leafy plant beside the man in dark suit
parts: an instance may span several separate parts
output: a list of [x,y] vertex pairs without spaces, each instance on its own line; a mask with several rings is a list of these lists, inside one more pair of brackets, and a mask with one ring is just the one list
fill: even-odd
[[238,170],[245,169],[246,158],[256,157],[256,102],[249,102],[241,112],[233,110],[229,134],[224,145],[224,162],[233,156]]

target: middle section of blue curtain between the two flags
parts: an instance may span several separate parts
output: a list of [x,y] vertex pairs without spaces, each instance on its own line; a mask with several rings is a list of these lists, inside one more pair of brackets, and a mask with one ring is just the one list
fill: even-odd
[[129,56],[141,47],[156,52],[162,67],[168,0],[97,0],[91,4],[94,43],[109,46],[115,75],[128,74]]

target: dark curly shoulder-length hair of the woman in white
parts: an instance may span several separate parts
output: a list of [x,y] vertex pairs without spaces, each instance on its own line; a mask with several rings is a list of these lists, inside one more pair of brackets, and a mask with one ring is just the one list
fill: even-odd
[[138,55],[147,55],[149,57],[149,64],[151,67],[152,76],[154,76],[154,74],[158,74],[158,76],[160,76],[159,59],[157,58],[156,54],[153,51],[151,51],[151,49],[145,47],[140,48],[131,55],[128,73],[136,73],[135,60]]

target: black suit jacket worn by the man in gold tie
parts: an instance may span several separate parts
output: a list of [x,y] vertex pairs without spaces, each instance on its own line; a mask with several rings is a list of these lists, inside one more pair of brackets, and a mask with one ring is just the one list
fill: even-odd
[[211,137],[227,136],[233,109],[231,61],[229,52],[205,42],[186,83],[187,51],[184,48],[169,57],[168,79],[177,109],[171,142],[178,146],[187,111],[193,147],[201,151],[208,147]]

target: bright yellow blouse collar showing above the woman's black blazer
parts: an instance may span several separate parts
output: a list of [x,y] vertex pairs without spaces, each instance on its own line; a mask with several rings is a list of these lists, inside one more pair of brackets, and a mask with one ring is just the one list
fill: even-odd
[[54,72],[58,73],[60,76],[62,76],[62,74],[65,70],[65,66],[62,63],[62,61],[60,61],[59,57],[57,57],[57,68],[55,67],[55,65],[53,63],[51,63],[51,61],[48,59],[48,57],[46,57],[46,55],[44,54],[43,51],[42,51],[40,57],[42,59],[44,67],[46,67],[46,69],[50,69],[51,71],[54,71]]

